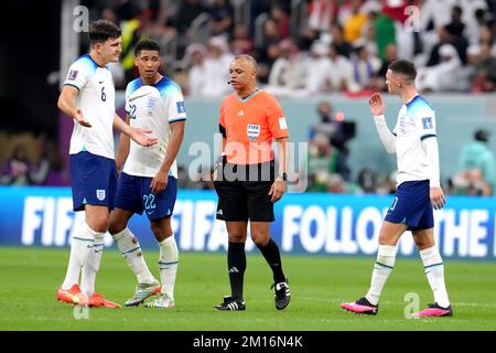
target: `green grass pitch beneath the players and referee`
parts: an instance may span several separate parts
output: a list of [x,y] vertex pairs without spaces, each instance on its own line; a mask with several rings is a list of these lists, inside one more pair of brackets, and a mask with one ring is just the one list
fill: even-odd
[[[423,309],[432,295],[420,259],[398,258],[382,292],[377,317],[339,309],[368,289],[374,258],[283,255],[291,303],[276,310],[271,274],[259,254],[248,256],[247,311],[218,312],[212,307],[228,293],[225,254],[180,254],[174,309],[89,309],[76,319],[73,307],[57,302],[69,250],[0,248],[0,330],[496,330],[496,264],[445,261],[453,318],[407,319],[405,297],[414,292]],[[158,250],[145,250],[158,276]],[[97,290],[123,302],[136,281],[116,249],[106,249]]]

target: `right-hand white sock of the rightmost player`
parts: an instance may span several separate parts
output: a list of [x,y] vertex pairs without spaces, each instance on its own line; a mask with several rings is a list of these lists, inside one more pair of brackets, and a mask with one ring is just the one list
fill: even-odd
[[422,258],[423,268],[425,275],[434,292],[434,301],[443,308],[450,306],[450,299],[448,299],[446,286],[444,284],[444,265],[439,254],[438,247],[433,247],[420,250],[420,257]]

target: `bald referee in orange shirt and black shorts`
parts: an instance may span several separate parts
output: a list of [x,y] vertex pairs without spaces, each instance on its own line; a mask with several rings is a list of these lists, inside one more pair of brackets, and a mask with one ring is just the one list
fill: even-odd
[[[254,243],[273,272],[276,308],[290,302],[288,277],[282,271],[279,247],[270,238],[274,221],[273,203],[287,188],[288,126],[277,99],[256,87],[257,62],[239,55],[229,65],[235,94],[220,106],[219,130],[223,153],[216,163],[214,185],[218,195],[217,220],[226,222],[227,267],[231,295],[215,306],[218,310],[246,310],[242,284],[246,269],[245,242],[248,220]],[[279,153],[279,173],[274,175],[272,142]]]

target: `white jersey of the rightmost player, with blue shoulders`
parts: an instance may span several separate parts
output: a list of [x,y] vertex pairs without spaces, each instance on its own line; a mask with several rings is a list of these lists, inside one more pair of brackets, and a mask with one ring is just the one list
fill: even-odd
[[429,161],[422,140],[436,137],[435,114],[431,105],[417,95],[401,107],[392,133],[397,137],[398,185],[406,181],[429,180]]

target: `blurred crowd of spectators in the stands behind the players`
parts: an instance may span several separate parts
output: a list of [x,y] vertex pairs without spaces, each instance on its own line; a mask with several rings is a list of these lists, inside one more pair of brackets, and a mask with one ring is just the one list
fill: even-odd
[[422,92],[496,88],[495,0],[85,2],[122,28],[121,87],[137,75],[133,45],[152,38],[163,71],[190,96],[229,92],[226,67],[237,54],[254,55],[259,84],[279,96],[384,90],[398,57],[416,63]]

